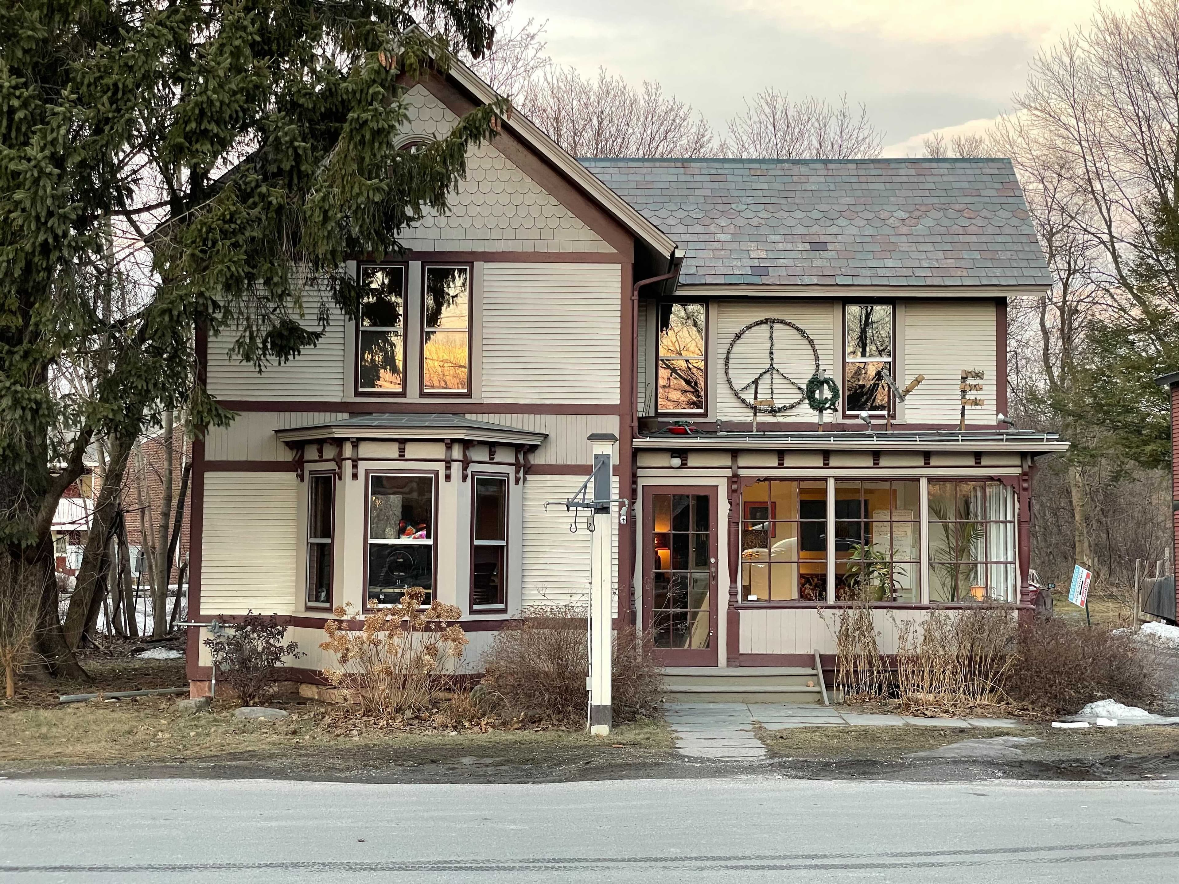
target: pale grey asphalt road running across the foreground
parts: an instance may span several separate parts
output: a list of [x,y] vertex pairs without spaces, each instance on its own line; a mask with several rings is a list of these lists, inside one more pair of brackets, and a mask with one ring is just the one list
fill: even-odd
[[0,781],[0,884],[1170,884],[1177,867],[1164,783]]

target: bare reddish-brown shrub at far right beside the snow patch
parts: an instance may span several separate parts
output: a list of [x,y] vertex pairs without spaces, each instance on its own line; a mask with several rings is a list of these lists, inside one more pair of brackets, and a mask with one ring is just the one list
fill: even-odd
[[1132,634],[1060,618],[1020,624],[1009,692],[1046,717],[1076,714],[1105,699],[1150,708],[1165,695],[1155,655]]

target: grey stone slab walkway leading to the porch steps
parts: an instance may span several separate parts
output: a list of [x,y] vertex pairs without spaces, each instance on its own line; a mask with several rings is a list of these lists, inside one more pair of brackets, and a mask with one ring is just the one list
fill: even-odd
[[864,714],[837,706],[802,702],[668,702],[664,707],[676,731],[676,748],[689,758],[751,760],[765,758],[765,746],[753,735],[757,721],[768,731],[786,727],[848,727],[869,725],[895,727],[1019,727],[1009,718],[911,718]]

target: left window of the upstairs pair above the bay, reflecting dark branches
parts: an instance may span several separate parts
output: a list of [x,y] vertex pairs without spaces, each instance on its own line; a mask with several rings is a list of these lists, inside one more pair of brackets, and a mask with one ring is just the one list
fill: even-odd
[[404,266],[362,268],[358,389],[404,392]]

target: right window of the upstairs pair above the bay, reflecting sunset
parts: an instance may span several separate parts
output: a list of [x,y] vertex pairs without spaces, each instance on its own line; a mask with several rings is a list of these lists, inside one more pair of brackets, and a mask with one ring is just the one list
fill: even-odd
[[424,273],[422,392],[467,392],[470,268],[427,265]]

